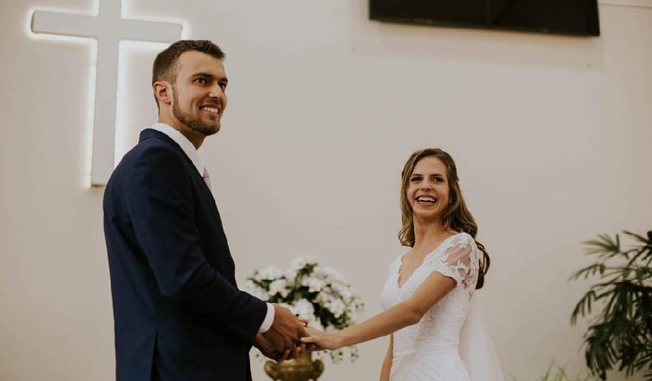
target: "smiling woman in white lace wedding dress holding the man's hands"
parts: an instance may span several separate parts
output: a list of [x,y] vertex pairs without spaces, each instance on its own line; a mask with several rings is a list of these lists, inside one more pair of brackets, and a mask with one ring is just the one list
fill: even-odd
[[489,256],[475,240],[452,157],[438,148],[414,152],[400,197],[399,239],[411,250],[389,265],[385,311],[336,333],[307,328],[302,342],[334,350],[390,335],[381,381],[502,381],[474,301]]

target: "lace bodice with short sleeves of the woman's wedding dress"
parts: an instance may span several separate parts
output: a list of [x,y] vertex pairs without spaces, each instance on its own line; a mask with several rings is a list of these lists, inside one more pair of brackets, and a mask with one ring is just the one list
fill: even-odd
[[467,233],[450,236],[431,251],[399,287],[402,259],[403,256],[399,256],[389,265],[388,279],[381,293],[385,309],[409,299],[432,272],[453,278],[457,285],[435,303],[418,324],[394,333],[394,353],[458,346],[478,279],[479,249],[475,241]]

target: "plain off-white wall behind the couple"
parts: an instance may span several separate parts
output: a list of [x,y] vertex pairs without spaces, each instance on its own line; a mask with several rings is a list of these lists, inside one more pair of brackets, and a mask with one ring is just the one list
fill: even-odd
[[[365,317],[379,312],[404,251],[402,164],[441,147],[492,254],[479,295],[504,371],[582,368],[568,321],[588,283],[567,283],[587,263],[580,242],[652,228],[648,2],[601,5],[599,38],[379,24],[363,0],[128,3],[227,52],[230,104],[202,152],[239,280],[312,254],[357,287]],[[92,8],[1,6],[0,379],[112,380],[103,190],[86,186],[92,49],[32,39],[28,11],[44,5]],[[155,121],[155,49],[124,51],[122,147]],[[360,348],[322,380],[374,379],[386,340]]]

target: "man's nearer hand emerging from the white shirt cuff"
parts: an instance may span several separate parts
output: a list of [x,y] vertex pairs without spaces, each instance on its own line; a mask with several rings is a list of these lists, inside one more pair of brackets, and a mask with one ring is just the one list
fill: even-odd
[[276,303],[273,306],[275,312],[274,322],[271,328],[263,333],[263,336],[278,353],[286,353],[286,350],[293,353],[296,351],[297,346],[301,345],[301,337],[308,335],[304,323],[297,319],[287,308]]

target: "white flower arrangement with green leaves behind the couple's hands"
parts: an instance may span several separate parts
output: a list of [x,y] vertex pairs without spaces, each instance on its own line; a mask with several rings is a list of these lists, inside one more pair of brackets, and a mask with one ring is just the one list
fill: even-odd
[[[300,319],[309,321],[309,327],[326,332],[355,324],[357,314],[364,308],[343,276],[335,269],[321,267],[313,257],[296,258],[287,269],[270,266],[257,270],[243,288],[259,299],[284,305]],[[346,351],[351,361],[357,359],[357,348]],[[343,359],[345,348],[326,352],[336,364]],[[323,357],[323,352],[315,355]]]

